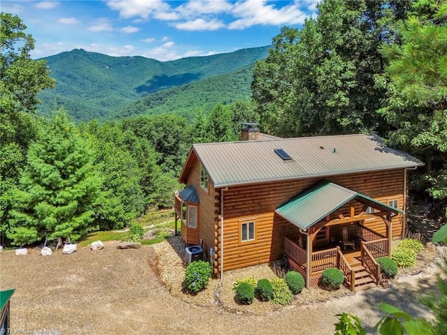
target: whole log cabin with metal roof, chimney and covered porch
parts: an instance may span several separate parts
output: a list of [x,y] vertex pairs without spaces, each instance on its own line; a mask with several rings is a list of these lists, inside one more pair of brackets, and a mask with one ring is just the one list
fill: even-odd
[[244,124],[240,142],[193,144],[175,221],[214,275],[286,258],[306,286],[337,267],[353,291],[377,285],[376,258],[404,234],[408,171],[421,161],[377,135],[279,138]]

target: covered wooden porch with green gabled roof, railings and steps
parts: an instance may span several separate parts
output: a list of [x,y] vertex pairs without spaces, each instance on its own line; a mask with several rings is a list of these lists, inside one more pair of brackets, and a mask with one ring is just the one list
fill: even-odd
[[[376,258],[390,256],[393,214],[400,209],[325,181],[281,205],[279,216],[298,228],[298,239],[284,237],[284,254],[291,268],[316,286],[324,269],[337,267],[352,291],[375,286],[381,279]],[[380,218],[386,234],[365,225]]]

